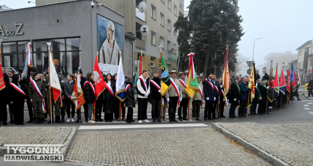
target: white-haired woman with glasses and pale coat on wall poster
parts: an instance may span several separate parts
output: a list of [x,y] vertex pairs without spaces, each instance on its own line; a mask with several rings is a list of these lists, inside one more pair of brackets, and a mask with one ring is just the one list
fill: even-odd
[[108,21],[107,39],[100,48],[100,63],[118,65],[120,49],[115,41],[115,27],[112,21]]

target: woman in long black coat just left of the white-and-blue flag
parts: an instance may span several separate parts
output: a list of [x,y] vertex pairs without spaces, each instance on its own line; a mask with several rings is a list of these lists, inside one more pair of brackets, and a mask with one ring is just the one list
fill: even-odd
[[[115,81],[112,80],[112,75],[108,73],[105,79],[105,90],[104,90],[104,103],[103,103],[103,112],[104,112],[104,120],[105,122],[113,121],[113,113],[114,113],[114,99],[115,99]],[[111,87],[112,91],[109,92],[109,88]]]

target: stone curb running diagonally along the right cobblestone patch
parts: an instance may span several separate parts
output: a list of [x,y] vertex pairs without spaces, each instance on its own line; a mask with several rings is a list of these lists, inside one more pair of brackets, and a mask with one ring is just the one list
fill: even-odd
[[[251,123],[251,122],[249,122]],[[238,135],[234,134],[233,132],[228,131],[226,128],[220,126],[221,123],[212,123],[212,128],[217,130],[220,133],[223,133],[226,137],[240,143],[244,148],[251,150],[254,154],[257,154],[260,158],[264,159],[265,161],[278,166],[287,166],[288,163],[282,161],[281,159],[273,156],[270,153],[267,153],[263,149],[257,147],[253,143],[250,143],[242,138],[240,138]],[[255,123],[257,124],[257,123]]]

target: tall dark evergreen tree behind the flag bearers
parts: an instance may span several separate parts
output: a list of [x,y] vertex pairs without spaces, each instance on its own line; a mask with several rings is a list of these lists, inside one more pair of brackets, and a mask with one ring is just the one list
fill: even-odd
[[188,8],[187,18],[180,16],[174,24],[175,31],[180,30],[177,42],[182,67],[187,68],[186,53],[192,51],[195,52],[194,64],[198,75],[203,72],[206,77],[216,65],[219,76],[224,62],[223,52],[228,45],[228,67],[235,71],[237,43],[244,35],[240,25],[243,19],[238,15],[238,0],[192,0]]

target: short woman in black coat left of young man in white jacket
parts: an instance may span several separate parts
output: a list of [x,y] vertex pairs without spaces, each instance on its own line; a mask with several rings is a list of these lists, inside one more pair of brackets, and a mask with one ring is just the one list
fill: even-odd
[[133,120],[133,107],[135,107],[135,98],[134,98],[134,92],[133,92],[133,78],[128,77],[125,80],[125,84],[126,84],[125,104],[127,107],[126,122],[131,123],[131,122],[135,122],[135,120]]

